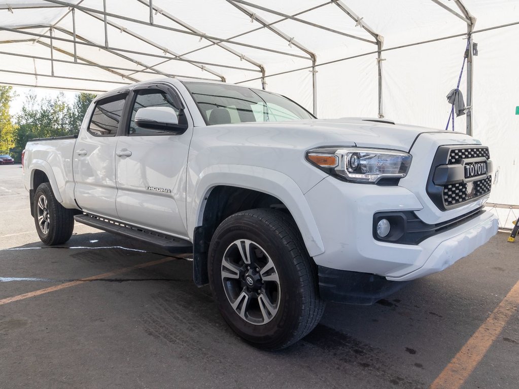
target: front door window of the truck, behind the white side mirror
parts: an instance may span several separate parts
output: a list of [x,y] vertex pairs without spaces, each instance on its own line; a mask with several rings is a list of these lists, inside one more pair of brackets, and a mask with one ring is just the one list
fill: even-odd
[[131,111],[131,120],[128,130],[129,135],[171,135],[170,131],[165,131],[163,129],[142,128],[135,124],[135,113],[137,113],[137,111],[141,108],[148,107],[173,108],[176,116],[179,118],[179,124],[187,124],[184,110],[175,107],[173,98],[168,93],[159,89],[143,89],[136,92],[135,103],[133,103]]

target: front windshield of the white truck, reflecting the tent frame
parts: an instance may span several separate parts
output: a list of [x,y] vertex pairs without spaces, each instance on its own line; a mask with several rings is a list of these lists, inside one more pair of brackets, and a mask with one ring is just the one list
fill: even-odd
[[274,93],[228,84],[184,84],[208,125],[313,119],[306,109]]

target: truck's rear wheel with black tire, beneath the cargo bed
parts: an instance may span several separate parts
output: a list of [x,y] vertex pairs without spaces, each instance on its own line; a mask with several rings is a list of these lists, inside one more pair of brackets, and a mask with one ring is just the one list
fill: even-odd
[[62,244],[74,230],[74,211],[63,207],[48,182],[39,185],[34,193],[34,224],[45,244]]

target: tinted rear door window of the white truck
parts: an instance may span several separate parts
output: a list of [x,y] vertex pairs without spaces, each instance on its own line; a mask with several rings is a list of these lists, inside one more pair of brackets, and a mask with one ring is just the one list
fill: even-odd
[[88,125],[88,132],[95,136],[115,136],[121,121],[126,95],[99,100]]

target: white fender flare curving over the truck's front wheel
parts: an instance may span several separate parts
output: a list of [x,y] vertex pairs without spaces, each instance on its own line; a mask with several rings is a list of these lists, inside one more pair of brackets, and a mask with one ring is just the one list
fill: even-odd
[[195,227],[202,225],[206,200],[212,189],[219,185],[237,186],[277,197],[292,214],[310,256],[324,252],[317,223],[295,181],[277,170],[248,165],[213,165],[202,170],[188,210],[188,232],[192,241]]

